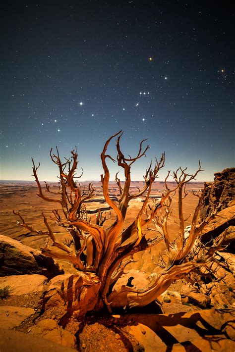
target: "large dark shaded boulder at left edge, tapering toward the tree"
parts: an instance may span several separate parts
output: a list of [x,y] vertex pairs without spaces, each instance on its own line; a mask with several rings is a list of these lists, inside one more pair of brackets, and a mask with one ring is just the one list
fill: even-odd
[[63,270],[53,258],[0,235],[0,276],[40,274],[51,279],[62,273]]

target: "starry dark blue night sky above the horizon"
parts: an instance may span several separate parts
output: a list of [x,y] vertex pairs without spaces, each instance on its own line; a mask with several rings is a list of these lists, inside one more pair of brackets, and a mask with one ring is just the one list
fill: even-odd
[[234,166],[232,2],[4,2],[0,179],[32,180],[33,157],[40,180],[56,180],[50,149],[77,146],[81,180],[100,180],[100,153],[120,129],[131,156],[148,138],[133,180],[162,151],[160,179],[199,159],[199,181]]

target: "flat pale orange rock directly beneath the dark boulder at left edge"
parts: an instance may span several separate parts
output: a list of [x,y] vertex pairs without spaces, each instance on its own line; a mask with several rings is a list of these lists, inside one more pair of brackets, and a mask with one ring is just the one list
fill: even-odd
[[20,296],[29,293],[42,292],[48,282],[46,276],[32,275],[10,275],[0,277],[0,289],[9,286],[10,295]]

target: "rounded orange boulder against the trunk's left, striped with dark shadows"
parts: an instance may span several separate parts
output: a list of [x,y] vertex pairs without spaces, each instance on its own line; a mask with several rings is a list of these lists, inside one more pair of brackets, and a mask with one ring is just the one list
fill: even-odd
[[99,278],[90,272],[56,276],[50,280],[46,308],[59,307],[64,314],[82,316],[95,307],[100,286]]

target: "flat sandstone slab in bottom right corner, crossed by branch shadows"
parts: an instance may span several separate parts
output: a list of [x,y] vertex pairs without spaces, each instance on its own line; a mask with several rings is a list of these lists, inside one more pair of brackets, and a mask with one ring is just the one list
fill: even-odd
[[[234,312],[215,309],[177,314],[129,314],[130,333],[146,352],[235,350],[231,321]],[[223,331],[222,331],[223,328]],[[226,334],[228,331],[231,337]]]

